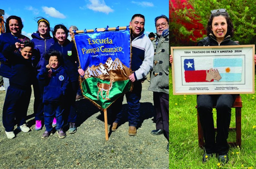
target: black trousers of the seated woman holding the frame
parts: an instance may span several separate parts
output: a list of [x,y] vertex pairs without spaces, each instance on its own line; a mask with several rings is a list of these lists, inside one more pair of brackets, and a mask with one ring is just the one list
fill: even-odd
[[[203,129],[205,152],[207,154],[217,153],[224,155],[228,153],[229,145],[227,139],[231,121],[231,106],[235,98],[236,95],[231,94],[197,95],[197,110]],[[212,116],[212,107],[215,105],[217,111],[216,140]]]

